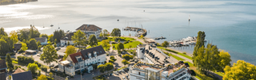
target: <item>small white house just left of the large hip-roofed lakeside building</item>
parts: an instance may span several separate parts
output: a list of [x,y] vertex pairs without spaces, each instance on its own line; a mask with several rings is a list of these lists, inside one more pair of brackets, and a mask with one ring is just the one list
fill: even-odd
[[74,36],[74,32],[67,33],[66,36],[62,37],[61,44],[67,45],[68,42],[70,42],[71,45],[73,45],[73,41],[71,40],[72,36]]

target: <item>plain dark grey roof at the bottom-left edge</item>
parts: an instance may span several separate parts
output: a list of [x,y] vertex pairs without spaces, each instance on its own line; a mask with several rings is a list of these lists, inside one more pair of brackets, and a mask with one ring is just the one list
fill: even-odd
[[13,80],[32,80],[31,71],[21,72],[18,74],[12,74]]

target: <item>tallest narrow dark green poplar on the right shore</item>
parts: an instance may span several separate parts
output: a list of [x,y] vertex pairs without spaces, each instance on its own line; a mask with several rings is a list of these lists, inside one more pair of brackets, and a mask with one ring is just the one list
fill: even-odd
[[204,45],[205,45],[205,43],[204,43],[205,37],[206,37],[205,32],[202,32],[202,31],[199,31],[199,32],[198,32],[197,43],[196,43],[195,46],[194,46],[194,51],[193,51],[193,56],[192,56],[194,65],[198,65],[198,63],[197,63],[194,59],[195,59],[195,57],[198,56],[198,49],[199,49],[199,48],[204,48]]

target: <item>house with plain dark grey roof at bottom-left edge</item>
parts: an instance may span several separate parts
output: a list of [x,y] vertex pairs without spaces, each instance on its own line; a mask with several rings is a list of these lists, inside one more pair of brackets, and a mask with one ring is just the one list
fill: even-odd
[[32,80],[31,71],[24,71],[22,69],[17,69],[13,74],[11,74],[10,80]]

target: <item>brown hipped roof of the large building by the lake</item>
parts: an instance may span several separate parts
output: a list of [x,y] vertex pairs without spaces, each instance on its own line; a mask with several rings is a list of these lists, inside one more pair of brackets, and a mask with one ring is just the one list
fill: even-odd
[[98,30],[101,30],[101,28],[99,28],[96,25],[81,25],[78,29],[75,29],[75,30],[98,31]]

